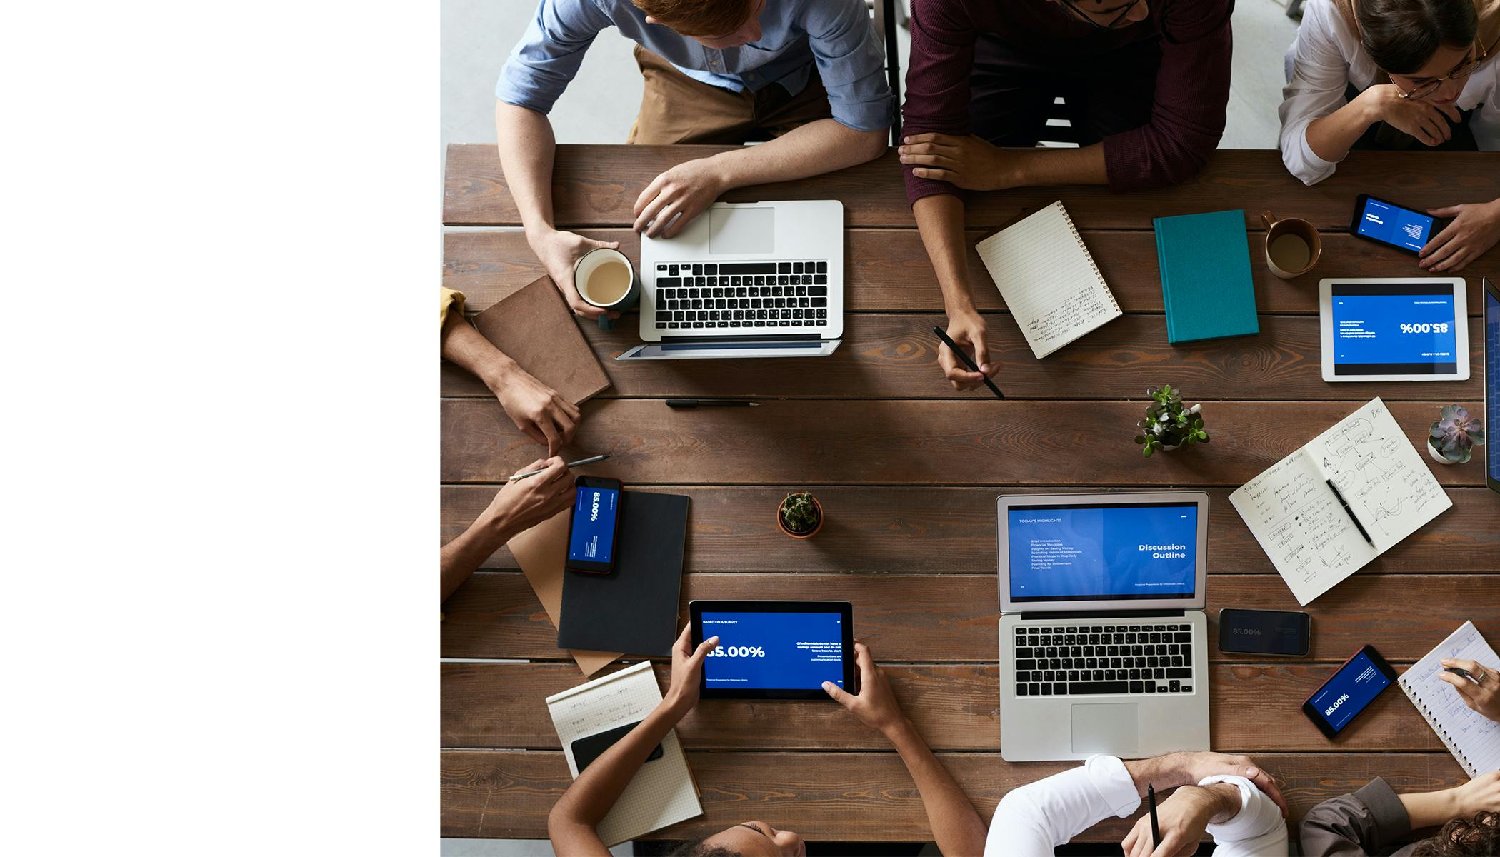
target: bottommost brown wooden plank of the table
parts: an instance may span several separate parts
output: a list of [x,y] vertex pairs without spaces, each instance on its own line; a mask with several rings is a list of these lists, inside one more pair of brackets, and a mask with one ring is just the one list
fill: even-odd
[[[944,764],[988,822],[1005,792],[1074,762],[1006,764],[998,753],[945,753]],[[1292,824],[1317,803],[1382,776],[1398,792],[1466,780],[1449,753],[1262,753],[1292,804]],[[930,842],[921,795],[900,756],[884,753],[688,752],[704,815],[646,836],[687,839],[748,819],[813,840]],[[444,750],[442,836],[546,837],[548,812],[570,782],[561,752]],[[1134,818],[1112,818],[1078,842],[1119,840]],[[1293,827],[1294,831],[1294,827]]]

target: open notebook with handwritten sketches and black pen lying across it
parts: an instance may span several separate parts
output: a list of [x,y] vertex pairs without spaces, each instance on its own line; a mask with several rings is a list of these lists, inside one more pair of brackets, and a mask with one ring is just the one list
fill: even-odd
[[1246,482],[1228,501],[1300,605],[1454,504],[1378,398]]

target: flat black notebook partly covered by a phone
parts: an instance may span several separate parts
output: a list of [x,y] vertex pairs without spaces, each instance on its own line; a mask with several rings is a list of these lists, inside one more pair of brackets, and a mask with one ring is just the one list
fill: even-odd
[[562,573],[558,648],[670,657],[682,588],[687,497],[626,491],[608,575]]

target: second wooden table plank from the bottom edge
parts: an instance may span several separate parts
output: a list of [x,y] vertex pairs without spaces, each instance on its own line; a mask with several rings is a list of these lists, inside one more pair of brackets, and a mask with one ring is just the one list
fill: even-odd
[[[1214,749],[1222,752],[1326,752],[1328,738],[1300,705],[1336,663],[1221,663],[1210,666]],[[1404,669],[1406,666],[1398,666]],[[657,684],[670,669],[657,665]],[[994,665],[888,665],[902,710],[934,750],[998,750],[999,668]],[[442,746],[558,749],[546,696],[580,684],[572,663],[444,663]],[[1254,711],[1254,716],[1246,716]],[[826,702],[699,702],[678,725],[694,750],[884,750],[885,740]],[[1380,696],[1340,752],[1444,752],[1426,720],[1400,690]]]

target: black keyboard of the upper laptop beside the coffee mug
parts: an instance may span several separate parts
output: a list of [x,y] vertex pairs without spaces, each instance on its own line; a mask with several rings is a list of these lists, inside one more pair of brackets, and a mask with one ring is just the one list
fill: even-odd
[[657,266],[657,330],[826,326],[826,261]]

